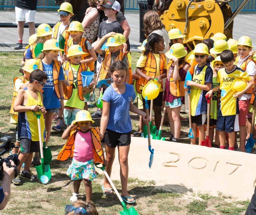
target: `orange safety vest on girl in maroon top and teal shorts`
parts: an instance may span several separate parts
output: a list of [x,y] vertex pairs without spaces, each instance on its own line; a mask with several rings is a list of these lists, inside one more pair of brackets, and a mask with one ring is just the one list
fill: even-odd
[[[173,63],[173,60],[169,59],[169,62],[167,64],[167,71],[169,70],[169,67],[172,65],[172,63]],[[179,66],[179,69],[182,68],[183,66],[184,64],[182,63]],[[170,83],[170,93],[173,96],[175,97],[185,96],[185,89],[184,89],[185,81],[182,81],[181,78],[178,81],[173,81],[173,72],[170,75],[169,83]]]

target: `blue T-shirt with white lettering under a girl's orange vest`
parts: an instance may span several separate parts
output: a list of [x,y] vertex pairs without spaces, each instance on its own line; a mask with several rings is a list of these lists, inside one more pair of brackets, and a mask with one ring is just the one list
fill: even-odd
[[[57,93],[54,89],[54,83],[53,83],[53,76],[52,76],[52,68],[53,68],[53,61],[51,64],[43,64],[43,71],[47,74],[48,79],[46,81],[45,86],[43,87],[43,95],[44,95],[44,99],[43,99],[43,103],[44,103],[44,107],[46,109],[50,109],[50,108],[60,108],[60,100],[59,97],[57,96]],[[60,72],[59,72],[59,78],[58,80],[64,80],[64,73],[63,73],[63,69],[62,66],[60,67]]]

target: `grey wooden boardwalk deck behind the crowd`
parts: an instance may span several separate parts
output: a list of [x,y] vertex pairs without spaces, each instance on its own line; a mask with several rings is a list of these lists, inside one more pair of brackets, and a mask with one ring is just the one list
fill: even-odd
[[[131,33],[129,36],[131,51],[139,51],[136,47],[139,42],[139,14],[125,14],[130,25]],[[55,12],[37,12],[35,23],[55,23],[58,20]],[[0,22],[15,22],[15,12],[1,11]],[[256,33],[254,30],[256,15],[238,15],[234,19],[233,38],[238,39],[240,36],[247,35],[252,39],[252,44],[256,48]],[[16,51],[14,46],[18,41],[17,28],[0,28],[0,51]],[[28,43],[28,28],[24,28],[23,47]],[[25,49],[17,50],[24,52]]]

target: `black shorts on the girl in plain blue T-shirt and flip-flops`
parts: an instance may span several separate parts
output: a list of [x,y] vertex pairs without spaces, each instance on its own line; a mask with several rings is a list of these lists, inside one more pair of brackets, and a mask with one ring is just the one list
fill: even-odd
[[126,146],[131,144],[131,131],[119,133],[106,129],[104,139],[102,140],[107,146],[115,148],[116,146]]

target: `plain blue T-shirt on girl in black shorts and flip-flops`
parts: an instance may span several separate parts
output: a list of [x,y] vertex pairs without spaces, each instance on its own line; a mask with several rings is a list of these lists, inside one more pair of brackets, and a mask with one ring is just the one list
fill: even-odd
[[135,98],[133,85],[125,83],[125,93],[115,92],[110,85],[104,92],[102,100],[110,103],[109,121],[107,129],[119,133],[127,133],[132,130],[132,122],[129,115],[130,102]]

